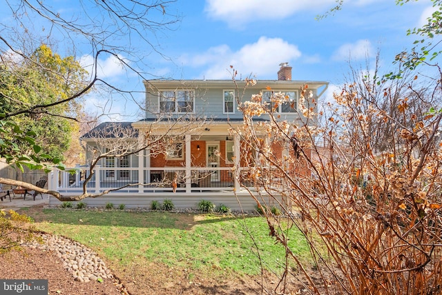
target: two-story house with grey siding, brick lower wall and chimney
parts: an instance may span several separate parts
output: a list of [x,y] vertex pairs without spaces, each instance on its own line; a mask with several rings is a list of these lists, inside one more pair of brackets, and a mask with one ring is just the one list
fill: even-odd
[[[250,100],[252,94],[261,91],[262,99],[269,100],[271,91],[284,92],[289,101],[276,108],[278,118],[296,123],[302,121],[298,99],[305,84],[311,90],[311,101],[318,101],[328,85],[324,81],[291,81],[291,67],[287,64],[281,64],[278,80],[258,80],[256,85],[247,88],[241,80],[144,81],[145,119],[119,124],[133,130],[135,136],[155,138],[166,134],[170,141],[163,139],[156,150],[102,159],[93,181],[88,183],[91,192],[142,184],[85,202],[97,206],[112,202],[124,203],[127,207],[148,207],[153,200],[172,199],[176,207],[187,208],[196,207],[198,201],[206,199],[215,205],[222,203],[239,210],[237,198],[240,198],[243,209],[253,209],[254,201],[247,192],[240,190],[238,179],[232,173],[233,166],[239,170],[248,169],[244,167],[246,161],[242,161],[246,155],[242,154],[240,136],[229,132],[231,128],[241,128],[243,123],[238,99]],[[315,107],[314,103],[312,105]],[[256,118],[268,119],[266,116]],[[82,140],[97,145],[99,139],[94,135],[97,130],[112,126],[115,123],[102,123]],[[277,144],[274,148],[281,149]],[[277,154],[284,152],[280,150]],[[63,194],[79,192],[83,177],[80,173],[74,176],[59,174],[56,189]]]

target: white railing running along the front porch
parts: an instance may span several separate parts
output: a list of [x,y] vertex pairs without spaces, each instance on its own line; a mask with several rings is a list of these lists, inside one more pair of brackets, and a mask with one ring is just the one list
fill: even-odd
[[[65,194],[82,192],[90,172],[84,167],[76,167],[73,170],[75,173],[54,170],[50,174],[50,189]],[[146,167],[140,170],[138,167],[97,166],[86,187],[90,193],[119,187],[124,187],[117,191],[119,193],[173,192],[174,188],[176,192],[195,193],[233,192],[238,183],[234,179],[231,167],[191,167],[189,170],[186,170],[186,167]]]

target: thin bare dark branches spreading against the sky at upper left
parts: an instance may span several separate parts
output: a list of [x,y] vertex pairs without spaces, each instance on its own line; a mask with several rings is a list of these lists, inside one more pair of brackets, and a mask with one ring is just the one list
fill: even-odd
[[[133,97],[133,89],[119,89],[106,81],[105,77],[100,77],[99,59],[111,57],[124,70],[142,77],[146,74],[143,70],[144,59],[152,52],[161,54],[158,50],[160,45],[156,43],[157,34],[170,30],[179,21],[176,15],[171,14],[173,8],[170,6],[175,1],[86,1],[79,3],[77,14],[57,12],[57,8],[41,1],[5,2],[5,8],[10,10],[10,19],[8,23],[0,24],[1,55],[8,52],[15,54],[17,59],[28,60],[48,72],[53,71],[31,58],[41,43],[52,44],[70,54],[88,54],[91,57],[90,81],[87,85],[66,99],[48,105],[31,105],[30,108],[8,113],[6,117],[22,113],[36,114],[55,104],[76,99],[98,85]],[[36,19],[41,21],[43,28],[34,30]],[[135,36],[142,40],[137,48],[132,44]]]

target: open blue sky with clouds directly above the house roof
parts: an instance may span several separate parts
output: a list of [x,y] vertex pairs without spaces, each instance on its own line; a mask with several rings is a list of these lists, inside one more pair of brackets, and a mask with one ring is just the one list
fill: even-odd
[[365,63],[379,49],[390,63],[412,46],[415,37],[406,30],[419,26],[431,3],[394,2],[349,0],[317,21],[334,0],[179,1],[182,23],[162,44],[175,64],[159,63],[157,70],[175,79],[229,79],[234,65],[242,74],[276,79],[279,63],[288,61],[293,79],[338,83],[349,59]]

